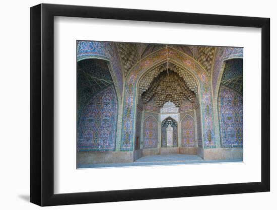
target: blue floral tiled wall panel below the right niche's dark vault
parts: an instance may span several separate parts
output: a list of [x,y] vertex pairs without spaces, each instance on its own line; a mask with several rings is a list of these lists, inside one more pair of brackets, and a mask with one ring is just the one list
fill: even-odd
[[221,146],[242,147],[243,102],[242,96],[224,85],[220,88],[218,113],[220,119]]

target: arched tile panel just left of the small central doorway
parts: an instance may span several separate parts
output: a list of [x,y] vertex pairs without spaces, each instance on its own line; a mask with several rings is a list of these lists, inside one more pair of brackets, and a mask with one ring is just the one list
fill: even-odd
[[158,147],[158,121],[150,116],[144,121],[144,149]]

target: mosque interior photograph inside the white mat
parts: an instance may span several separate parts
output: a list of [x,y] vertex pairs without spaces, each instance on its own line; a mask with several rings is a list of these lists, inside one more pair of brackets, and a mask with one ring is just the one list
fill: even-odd
[[77,168],[243,161],[243,48],[77,41]]

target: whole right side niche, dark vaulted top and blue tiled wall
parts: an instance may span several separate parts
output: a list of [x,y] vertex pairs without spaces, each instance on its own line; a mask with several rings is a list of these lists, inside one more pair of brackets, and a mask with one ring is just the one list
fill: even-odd
[[218,91],[220,144],[223,148],[243,147],[243,60],[225,61]]

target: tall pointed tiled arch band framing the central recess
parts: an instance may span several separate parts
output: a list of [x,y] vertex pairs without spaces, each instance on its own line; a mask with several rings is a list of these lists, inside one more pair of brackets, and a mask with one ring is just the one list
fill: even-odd
[[205,148],[216,147],[210,76],[205,72],[205,69],[197,63],[197,61],[193,60],[193,58],[168,47],[168,49],[161,49],[140,60],[140,62],[132,67],[126,76],[123,102],[122,139],[120,146],[121,151],[133,150],[133,127],[139,92],[138,83],[145,74],[167,61],[181,67],[183,71],[188,72],[196,80],[200,102],[199,107],[203,145]]

